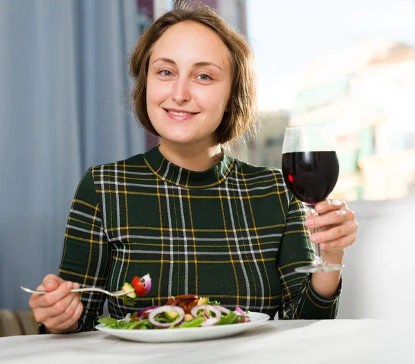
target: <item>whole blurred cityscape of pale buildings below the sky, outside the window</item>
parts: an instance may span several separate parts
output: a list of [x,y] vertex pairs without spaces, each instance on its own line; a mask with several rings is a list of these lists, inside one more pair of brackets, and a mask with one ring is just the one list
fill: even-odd
[[290,124],[331,125],[340,162],[332,197],[352,201],[414,190],[414,119],[414,48],[373,40],[311,64]]

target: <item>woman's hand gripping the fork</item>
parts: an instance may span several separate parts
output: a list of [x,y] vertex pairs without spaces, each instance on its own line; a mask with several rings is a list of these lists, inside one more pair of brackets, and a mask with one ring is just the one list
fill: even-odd
[[35,320],[42,322],[53,334],[76,330],[77,320],[84,308],[79,293],[71,293],[71,289],[77,288],[80,288],[80,284],[64,281],[54,274],[46,275],[37,289],[47,293],[33,293],[29,300]]

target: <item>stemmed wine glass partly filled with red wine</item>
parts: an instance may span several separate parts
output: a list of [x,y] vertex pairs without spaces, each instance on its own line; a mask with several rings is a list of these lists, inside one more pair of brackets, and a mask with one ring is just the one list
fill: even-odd
[[[329,125],[308,124],[286,128],[282,145],[282,174],[295,197],[304,202],[312,215],[318,215],[315,204],[329,196],[339,175],[335,141]],[[327,264],[322,258],[320,244],[316,244],[315,248],[313,264],[300,266],[295,271],[326,272],[344,267],[342,264]]]

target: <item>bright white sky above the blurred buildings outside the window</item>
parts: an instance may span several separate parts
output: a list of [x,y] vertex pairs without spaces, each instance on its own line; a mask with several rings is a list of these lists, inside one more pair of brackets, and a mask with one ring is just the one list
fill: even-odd
[[358,39],[415,46],[415,0],[247,0],[259,107],[288,108],[306,65]]

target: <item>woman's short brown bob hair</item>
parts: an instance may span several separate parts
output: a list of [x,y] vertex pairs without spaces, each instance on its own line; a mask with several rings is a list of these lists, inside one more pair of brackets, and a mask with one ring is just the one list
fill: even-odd
[[160,136],[149,119],[146,103],[147,71],[151,51],[157,40],[174,24],[194,21],[219,35],[230,53],[232,85],[227,111],[216,129],[217,142],[224,144],[244,134],[251,134],[257,121],[257,89],[252,51],[242,35],[233,30],[216,12],[203,3],[176,3],[147,28],[130,57],[130,73],[134,80],[133,109],[138,122],[151,134]]

